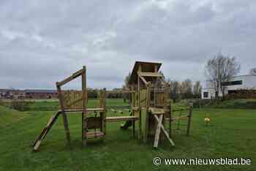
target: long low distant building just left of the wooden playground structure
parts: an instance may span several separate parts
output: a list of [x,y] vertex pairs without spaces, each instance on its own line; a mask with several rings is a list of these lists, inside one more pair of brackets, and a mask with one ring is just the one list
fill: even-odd
[[24,90],[26,99],[51,99],[58,98],[58,92],[56,90],[47,89],[26,89]]

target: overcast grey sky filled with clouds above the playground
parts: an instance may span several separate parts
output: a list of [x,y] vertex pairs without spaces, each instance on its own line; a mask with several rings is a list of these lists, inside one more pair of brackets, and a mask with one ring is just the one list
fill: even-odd
[[219,51],[244,75],[256,66],[255,27],[255,0],[1,0],[0,88],[55,88],[83,65],[89,87],[121,87],[136,60],[203,81]]

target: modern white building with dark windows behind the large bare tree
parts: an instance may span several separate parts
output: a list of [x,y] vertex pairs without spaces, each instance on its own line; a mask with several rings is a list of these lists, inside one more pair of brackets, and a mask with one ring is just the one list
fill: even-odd
[[[225,94],[233,94],[238,90],[255,89],[256,75],[240,75],[231,77],[230,81],[222,83],[225,86]],[[202,89],[202,99],[214,98],[217,93],[222,96],[222,92],[216,92],[210,81],[206,81],[206,85]]]

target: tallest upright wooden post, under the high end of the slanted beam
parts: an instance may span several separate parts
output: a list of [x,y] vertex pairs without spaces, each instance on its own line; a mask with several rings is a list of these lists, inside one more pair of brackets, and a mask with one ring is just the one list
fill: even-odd
[[83,92],[83,113],[82,113],[82,142],[83,145],[87,143],[87,120],[86,120],[86,66],[83,66],[82,72],[82,92]]

